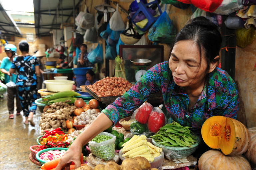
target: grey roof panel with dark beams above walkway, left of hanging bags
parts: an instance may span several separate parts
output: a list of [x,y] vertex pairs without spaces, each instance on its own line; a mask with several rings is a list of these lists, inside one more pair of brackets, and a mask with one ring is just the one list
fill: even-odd
[[[75,9],[81,2],[75,0]],[[51,30],[60,29],[62,13],[63,23],[73,16],[73,0],[33,0],[33,3],[37,36],[49,36]]]

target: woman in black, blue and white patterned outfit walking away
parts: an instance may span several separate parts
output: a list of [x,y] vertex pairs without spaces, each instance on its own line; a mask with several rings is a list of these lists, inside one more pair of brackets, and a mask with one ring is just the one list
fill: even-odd
[[16,85],[18,86],[18,95],[20,98],[23,116],[25,116],[24,124],[35,126],[33,115],[36,111],[35,100],[37,99],[37,79],[36,75],[40,75],[39,63],[35,56],[28,54],[29,45],[26,41],[19,42],[21,55],[14,58],[10,68],[10,73],[18,72]]

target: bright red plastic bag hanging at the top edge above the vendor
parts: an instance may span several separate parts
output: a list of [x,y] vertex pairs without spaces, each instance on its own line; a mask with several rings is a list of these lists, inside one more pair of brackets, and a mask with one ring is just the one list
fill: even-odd
[[193,4],[195,7],[200,8],[206,12],[215,11],[223,0],[178,0],[185,4]]

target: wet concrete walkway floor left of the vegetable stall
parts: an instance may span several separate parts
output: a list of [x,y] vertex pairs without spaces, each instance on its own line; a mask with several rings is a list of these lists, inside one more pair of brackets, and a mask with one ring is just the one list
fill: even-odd
[[34,115],[35,127],[25,125],[23,113],[9,119],[7,97],[0,99],[0,170],[38,170],[39,166],[29,160],[29,147],[37,145],[36,138],[40,136],[40,111],[37,108]]

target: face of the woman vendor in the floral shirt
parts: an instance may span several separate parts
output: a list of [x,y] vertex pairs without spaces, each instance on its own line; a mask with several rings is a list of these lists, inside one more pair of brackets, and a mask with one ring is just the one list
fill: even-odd
[[207,62],[202,52],[200,65],[200,51],[192,40],[178,41],[173,46],[169,68],[178,86],[197,88],[204,84]]

